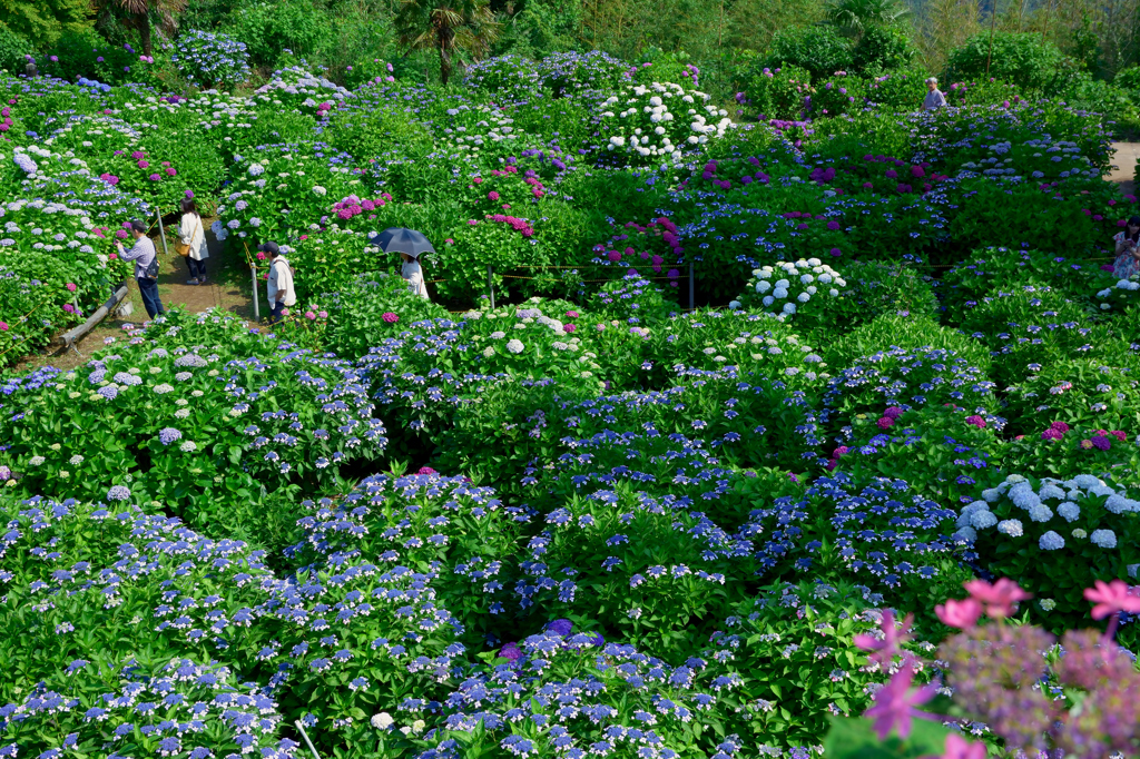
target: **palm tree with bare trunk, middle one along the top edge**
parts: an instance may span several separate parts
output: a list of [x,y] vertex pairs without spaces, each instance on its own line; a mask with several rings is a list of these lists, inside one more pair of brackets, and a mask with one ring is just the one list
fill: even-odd
[[404,0],[396,31],[407,48],[439,51],[439,75],[446,85],[454,68],[451,56],[457,50],[484,54],[498,39],[499,23],[487,0]]

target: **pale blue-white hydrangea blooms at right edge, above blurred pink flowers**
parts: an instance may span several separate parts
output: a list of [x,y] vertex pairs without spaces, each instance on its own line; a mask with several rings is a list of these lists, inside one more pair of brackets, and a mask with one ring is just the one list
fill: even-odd
[[[1104,498],[1104,505],[1098,506],[1093,499]],[[958,532],[954,537],[960,540],[974,542],[977,540],[979,530],[987,530],[996,527],[999,532],[1003,532],[1011,538],[1019,538],[1025,534],[1025,525],[1019,519],[1007,519],[999,521],[991,511],[993,504],[1008,499],[1018,509],[1025,512],[1029,522],[1044,524],[1053,517],[1064,520],[1060,524],[1067,525],[1076,522],[1081,517],[1082,509],[1096,508],[1099,515],[1100,509],[1112,515],[1140,512],[1140,500],[1129,497],[1124,488],[1113,488],[1104,480],[1091,474],[1081,474],[1072,480],[1057,480],[1044,478],[1041,485],[1034,490],[1028,480],[1011,474],[996,488],[982,491],[982,500],[976,500],[962,507],[958,517]],[[1052,506],[1045,501],[1056,501]],[[1076,540],[1083,540],[1088,533],[1081,528],[1073,529],[1069,536]],[[1088,536],[1090,541],[1101,548],[1116,547],[1116,533],[1109,529],[1093,530]],[[1058,550],[1065,547],[1065,538],[1054,530],[1049,530],[1040,536],[1037,546],[1042,550]]]

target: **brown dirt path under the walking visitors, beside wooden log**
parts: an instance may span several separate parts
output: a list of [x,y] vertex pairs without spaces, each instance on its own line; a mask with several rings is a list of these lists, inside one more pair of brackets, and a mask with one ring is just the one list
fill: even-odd
[[[206,228],[206,248],[210,258],[206,260],[206,284],[204,286],[188,285],[190,278],[186,261],[174,253],[174,237],[168,231],[166,244],[169,255],[163,254],[162,239],[155,236],[154,245],[158,251],[158,296],[164,308],[182,308],[193,313],[219,308],[237,315],[253,326],[253,297],[250,272],[241,253],[222,251],[222,244],[210,231],[212,219],[203,219]],[[106,344],[108,338],[122,340],[123,327],[128,324],[140,324],[147,319],[139,295],[138,285],[130,281],[127,301],[130,303],[130,316],[115,315],[104,319],[89,332],[76,345],[75,350],[59,351],[48,348],[43,353],[30,356],[17,367],[18,370],[30,370],[40,366],[54,366],[59,369],[72,369],[85,364],[89,354]]]

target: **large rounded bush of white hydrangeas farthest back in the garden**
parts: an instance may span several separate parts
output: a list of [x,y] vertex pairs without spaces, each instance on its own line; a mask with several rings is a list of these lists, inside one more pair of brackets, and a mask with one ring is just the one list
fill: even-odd
[[606,149],[624,152],[634,163],[679,166],[685,153],[733,128],[728,112],[709,100],[705,92],[658,82],[614,95],[601,106]]

